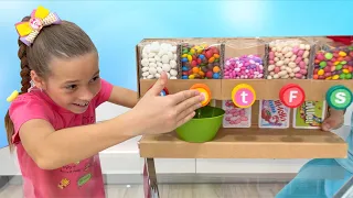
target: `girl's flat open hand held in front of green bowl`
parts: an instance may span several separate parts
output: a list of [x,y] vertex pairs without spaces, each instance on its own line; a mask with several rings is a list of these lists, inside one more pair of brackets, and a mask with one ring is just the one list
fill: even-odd
[[159,134],[173,131],[195,116],[203,96],[196,90],[184,90],[174,95],[160,96],[167,85],[163,73],[153,87],[133,107],[136,124],[141,124],[141,134]]

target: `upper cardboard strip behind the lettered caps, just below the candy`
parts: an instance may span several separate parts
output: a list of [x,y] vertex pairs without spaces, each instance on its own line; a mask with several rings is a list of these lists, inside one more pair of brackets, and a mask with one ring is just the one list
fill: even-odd
[[[156,79],[140,79],[140,96],[156,82]],[[194,84],[206,84],[212,98],[216,100],[229,100],[233,88],[238,84],[248,84],[256,91],[257,100],[279,99],[279,90],[288,84],[299,85],[306,92],[306,100],[323,100],[332,86],[343,85],[353,91],[352,80],[312,80],[312,79],[170,79],[167,88],[174,94],[189,89]]]

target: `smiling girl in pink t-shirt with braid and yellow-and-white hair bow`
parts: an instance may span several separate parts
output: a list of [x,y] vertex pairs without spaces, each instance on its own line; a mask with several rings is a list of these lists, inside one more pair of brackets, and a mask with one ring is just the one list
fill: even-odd
[[[201,107],[203,97],[194,90],[160,97],[165,74],[139,101],[135,91],[100,79],[88,35],[43,7],[15,26],[22,88],[6,128],[25,198],[104,198],[98,152],[137,135],[172,131]],[[95,109],[105,101],[132,109],[95,123]]]

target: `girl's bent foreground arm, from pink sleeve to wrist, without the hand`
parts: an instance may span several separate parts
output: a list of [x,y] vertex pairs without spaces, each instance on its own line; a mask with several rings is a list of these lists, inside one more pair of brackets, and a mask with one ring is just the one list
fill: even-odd
[[[132,111],[115,119],[55,131],[45,120],[25,122],[20,129],[22,145],[43,169],[55,169],[88,158],[98,152],[142,133]],[[35,131],[35,133],[33,133]]]

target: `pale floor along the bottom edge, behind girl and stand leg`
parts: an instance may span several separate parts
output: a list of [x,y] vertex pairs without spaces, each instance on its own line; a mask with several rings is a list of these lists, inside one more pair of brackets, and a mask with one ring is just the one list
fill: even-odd
[[[272,198],[284,184],[201,184],[160,185],[161,198]],[[143,198],[141,185],[107,185],[108,198]],[[0,198],[22,198],[20,185],[0,189]]]

